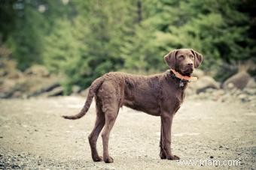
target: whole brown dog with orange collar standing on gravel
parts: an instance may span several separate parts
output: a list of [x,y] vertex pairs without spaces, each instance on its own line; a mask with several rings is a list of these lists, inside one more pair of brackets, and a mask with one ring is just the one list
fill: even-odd
[[112,163],[108,154],[109,133],[121,106],[128,106],[150,115],[161,117],[160,158],[178,160],[171,151],[172,118],[184,100],[184,89],[194,68],[200,66],[203,56],[193,49],[175,49],[164,56],[171,70],[152,76],[127,73],[106,73],[90,86],[84,108],[78,115],[63,116],[78,119],[86,114],[93,97],[96,98],[96,123],[88,137],[93,161],[102,161],[96,142],[102,131],[103,160]]

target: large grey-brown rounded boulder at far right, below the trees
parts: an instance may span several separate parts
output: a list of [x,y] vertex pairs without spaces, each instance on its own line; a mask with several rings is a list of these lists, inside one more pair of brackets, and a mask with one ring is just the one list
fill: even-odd
[[234,87],[242,90],[248,84],[250,79],[251,79],[251,76],[247,72],[242,71],[228,78],[223,83],[222,88],[227,89],[229,88],[228,85],[232,83]]

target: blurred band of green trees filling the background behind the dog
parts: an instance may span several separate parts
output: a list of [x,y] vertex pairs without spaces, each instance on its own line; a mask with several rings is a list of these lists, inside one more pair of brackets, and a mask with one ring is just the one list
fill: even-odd
[[178,48],[201,52],[219,77],[255,61],[255,11],[253,0],[0,0],[0,43],[20,70],[66,75],[68,94],[108,71],[166,70],[163,55]]

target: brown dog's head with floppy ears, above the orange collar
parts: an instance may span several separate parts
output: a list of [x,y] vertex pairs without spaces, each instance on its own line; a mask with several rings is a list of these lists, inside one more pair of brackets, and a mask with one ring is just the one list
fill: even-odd
[[203,55],[194,49],[175,49],[164,56],[166,64],[181,75],[190,76],[200,66]]

